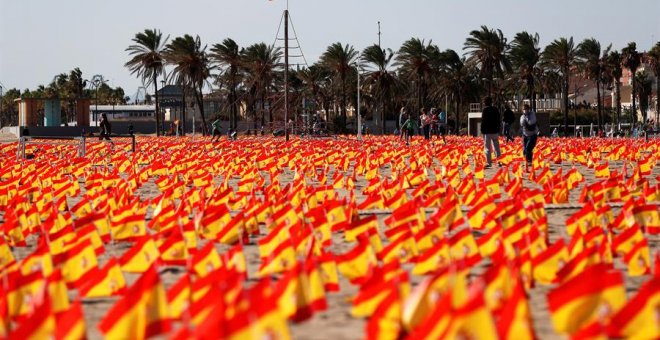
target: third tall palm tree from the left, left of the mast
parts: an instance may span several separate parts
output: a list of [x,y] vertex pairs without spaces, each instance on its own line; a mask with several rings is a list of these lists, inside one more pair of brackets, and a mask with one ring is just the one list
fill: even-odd
[[236,96],[236,87],[240,81],[240,65],[242,63],[243,49],[239,49],[238,44],[227,38],[222,44],[215,44],[211,47],[210,57],[219,67],[223,68],[223,75],[227,78],[227,87],[229,94],[227,102],[229,103],[230,119],[229,127],[235,129],[238,124],[238,98]]

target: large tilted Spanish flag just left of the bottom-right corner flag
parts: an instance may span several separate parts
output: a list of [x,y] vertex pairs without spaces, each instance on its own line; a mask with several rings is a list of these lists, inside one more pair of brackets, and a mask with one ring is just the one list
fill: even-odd
[[548,293],[548,309],[559,333],[574,334],[595,320],[607,320],[626,303],[621,273],[607,264],[587,267]]

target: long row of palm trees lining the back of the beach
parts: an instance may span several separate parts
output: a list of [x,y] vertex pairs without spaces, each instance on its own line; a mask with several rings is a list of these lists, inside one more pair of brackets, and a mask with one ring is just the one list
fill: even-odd
[[[405,106],[415,114],[422,108],[442,107],[459,131],[467,125],[463,113],[469,103],[489,95],[500,104],[513,98],[526,98],[534,104],[535,99],[560,97],[568,131],[573,76],[596,84],[595,123],[599,128],[606,121],[621,119],[619,96],[612,117],[604,117],[602,107],[606,89],[620,93],[624,69],[635,75],[632,112],[637,112],[637,98],[645,100],[640,94],[651,91],[649,76],[660,76],[660,43],[642,54],[634,42],[616,51],[593,38],[576,43],[572,37],[561,37],[545,47],[539,41],[538,34],[529,32],[519,32],[509,41],[501,30],[481,26],[470,32],[458,52],[419,38],[405,41],[396,51],[377,44],[359,51],[336,42],[309,67],[295,65],[289,70],[289,108],[294,115],[323,110],[336,129],[345,131],[347,110],[357,106],[359,65],[361,109],[366,118],[377,118],[379,130],[384,131],[386,120],[396,120],[399,108]],[[186,34],[170,40],[157,29],[146,29],[135,35],[126,51],[129,60],[125,66],[145,86],[153,86],[156,111],[160,112],[159,79],[179,85],[184,103],[189,100],[198,107],[205,133],[207,114],[214,114],[204,112],[202,91],[208,88],[223,98],[222,110],[229,113],[230,128],[237,126],[241,108],[255,127],[283,119],[284,65],[278,47],[265,43],[241,47],[230,38],[209,47],[199,36]],[[642,62],[650,66],[647,73],[638,72]],[[62,84],[68,93],[75,92],[79,84],[74,71],[63,79],[69,84]],[[300,105],[303,99],[311,107]],[[660,103],[655,105],[660,112]],[[646,120],[646,110],[642,114]],[[157,114],[156,119],[159,127],[163,117]],[[185,124],[185,111],[182,120]]]

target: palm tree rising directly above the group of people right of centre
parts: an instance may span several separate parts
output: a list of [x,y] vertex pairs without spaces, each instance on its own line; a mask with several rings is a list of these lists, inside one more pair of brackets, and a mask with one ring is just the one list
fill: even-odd
[[415,85],[416,112],[424,106],[424,98],[433,72],[431,58],[437,47],[419,38],[411,38],[401,45],[396,57],[401,76]]

